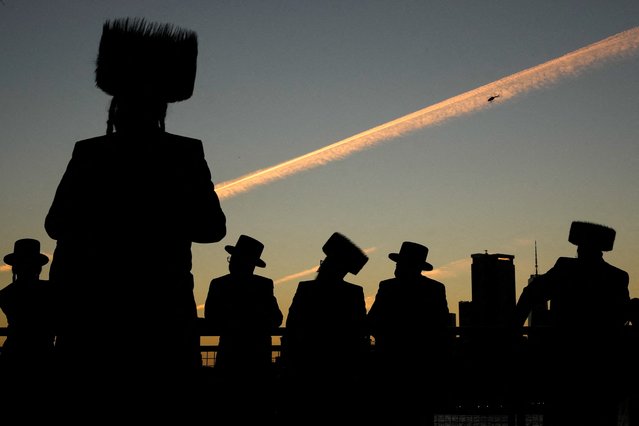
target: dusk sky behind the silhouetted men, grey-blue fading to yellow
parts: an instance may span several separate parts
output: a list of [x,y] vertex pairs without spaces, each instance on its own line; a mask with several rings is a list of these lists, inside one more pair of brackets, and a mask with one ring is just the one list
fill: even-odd
[[[247,234],[265,245],[256,273],[274,280],[286,316],[341,232],[368,253],[346,277],[367,306],[393,275],[388,254],[414,241],[458,313],[472,254],[513,255],[519,295],[536,270],[576,255],[575,220],[616,230],[604,258],[639,297],[636,32],[621,53],[605,44],[551,62],[636,30],[631,0],[4,0],[0,255],[29,237],[52,256],[44,218],[74,143],[106,131],[110,98],[94,81],[102,25],[124,17],[198,34],[194,94],[166,119],[167,131],[202,140],[227,216],[222,241],[192,248],[198,305],[228,272],[224,247]],[[546,63],[554,75],[535,68]],[[384,127],[397,120],[410,126]],[[340,142],[346,151],[327,148]],[[270,169],[318,151],[312,164]],[[263,182],[222,189],[264,169]],[[117,256],[95,268],[117,269]],[[2,264],[0,287],[9,282]]]

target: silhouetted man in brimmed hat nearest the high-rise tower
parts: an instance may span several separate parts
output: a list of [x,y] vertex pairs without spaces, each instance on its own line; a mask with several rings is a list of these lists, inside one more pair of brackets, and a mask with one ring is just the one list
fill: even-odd
[[395,278],[379,283],[368,312],[379,424],[431,424],[435,399],[444,401],[451,354],[448,301],[444,284],[422,275],[433,270],[427,256],[428,247],[411,241],[390,253]]

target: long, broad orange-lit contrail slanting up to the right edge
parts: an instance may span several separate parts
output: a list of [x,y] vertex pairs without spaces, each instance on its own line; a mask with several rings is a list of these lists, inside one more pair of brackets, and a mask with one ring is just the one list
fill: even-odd
[[499,102],[503,102],[514,96],[553,84],[562,78],[577,75],[580,71],[603,61],[631,55],[637,48],[639,48],[639,27],[623,31],[559,58],[519,71],[300,157],[257,170],[237,179],[221,182],[216,185],[216,192],[221,200],[233,197],[256,186],[330,161],[343,159],[380,142],[479,111],[489,105],[487,98],[495,94],[499,94]]

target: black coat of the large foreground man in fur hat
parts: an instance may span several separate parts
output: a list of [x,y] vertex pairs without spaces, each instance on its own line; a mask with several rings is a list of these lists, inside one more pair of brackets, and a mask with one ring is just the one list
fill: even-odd
[[226,234],[200,140],[154,130],[76,142],[45,229],[57,241],[57,346],[105,365],[146,365],[158,342],[168,343],[151,358],[160,364],[199,356],[185,334],[197,319],[191,244]]

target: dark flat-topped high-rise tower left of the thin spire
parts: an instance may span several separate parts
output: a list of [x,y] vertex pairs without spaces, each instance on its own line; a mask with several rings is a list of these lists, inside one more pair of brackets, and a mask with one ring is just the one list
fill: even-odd
[[515,256],[472,254],[473,325],[503,326],[515,308]]

